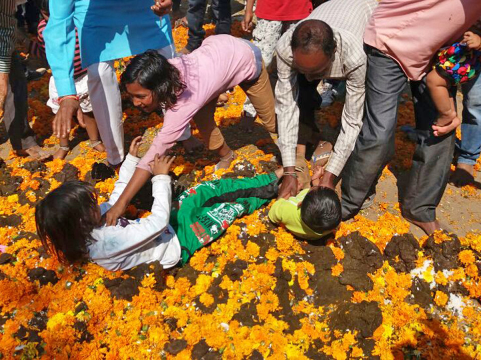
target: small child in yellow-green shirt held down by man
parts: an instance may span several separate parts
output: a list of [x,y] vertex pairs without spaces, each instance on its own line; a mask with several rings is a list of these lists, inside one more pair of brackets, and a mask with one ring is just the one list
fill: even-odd
[[[284,224],[297,237],[316,240],[341,223],[341,201],[336,192],[319,186],[324,168],[318,166],[312,175],[312,187],[289,199],[278,199],[269,211],[269,218]],[[299,183],[299,189],[301,183]]]

